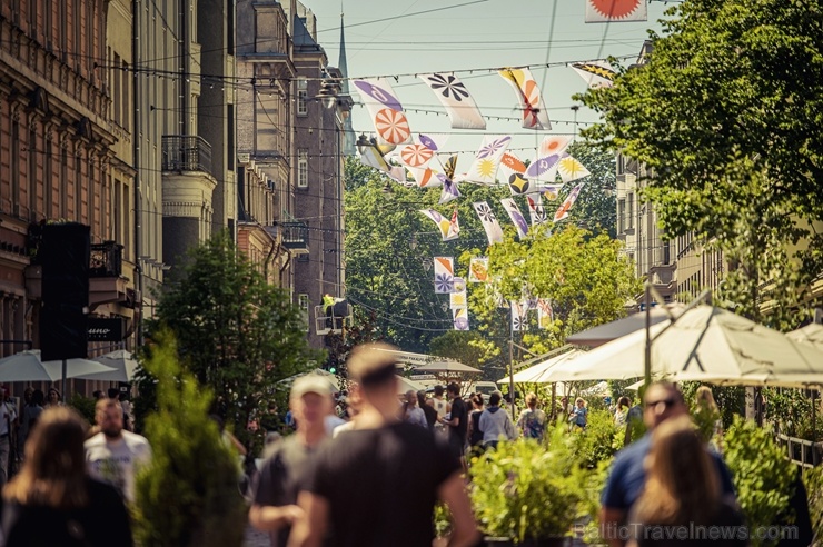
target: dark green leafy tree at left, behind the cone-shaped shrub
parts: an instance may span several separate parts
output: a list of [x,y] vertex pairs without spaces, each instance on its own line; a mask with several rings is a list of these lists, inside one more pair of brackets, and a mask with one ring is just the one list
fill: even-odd
[[238,434],[278,381],[323,361],[286,291],[267,284],[225,233],[194,249],[167,287],[150,332],[170,329],[187,370],[212,390],[217,414]]

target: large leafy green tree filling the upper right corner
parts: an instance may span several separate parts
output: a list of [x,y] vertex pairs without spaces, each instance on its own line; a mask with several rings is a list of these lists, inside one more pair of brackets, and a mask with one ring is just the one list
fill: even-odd
[[823,271],[823,9],[686,0],[667,14],[647,62],[583,96],[605,118],[584,135],[650,168],[668,237],[725,253],[723,298],[754,319],[771,299],[786,327]]

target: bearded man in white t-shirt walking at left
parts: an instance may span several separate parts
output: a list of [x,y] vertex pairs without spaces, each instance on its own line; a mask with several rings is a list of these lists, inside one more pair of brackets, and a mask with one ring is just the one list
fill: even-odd
[[109,483],[128,503],[133,503],[136,470],[151,459],[149,441],[123,430],[122,407],[117,399],[97,401],[95,420],[100,432],[86,441],[89,475]]

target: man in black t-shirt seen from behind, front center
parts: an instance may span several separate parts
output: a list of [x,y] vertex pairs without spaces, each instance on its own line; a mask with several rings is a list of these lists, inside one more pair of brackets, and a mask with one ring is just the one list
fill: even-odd
[[355,348],[347,360],[359,382],[363,406],[354,428],[326,445],[313,477],[298,496],[305,510],[289,547],[419,547],[434,538],[437,499],[453,516],[449,545],[479,539],[465,483],[448,446],[430,431],[397,417],[397,377],[386,345]]

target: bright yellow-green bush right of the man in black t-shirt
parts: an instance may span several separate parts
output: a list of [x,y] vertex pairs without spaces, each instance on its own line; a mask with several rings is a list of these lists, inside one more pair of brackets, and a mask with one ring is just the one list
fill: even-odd
[[548,449],[532,439],[500,442],[472,458],[469,471],[475,516],[489,536],[566,536],[586,508],[586,475],[575,466],[563,427],[554,429]]

